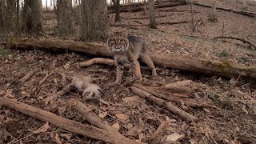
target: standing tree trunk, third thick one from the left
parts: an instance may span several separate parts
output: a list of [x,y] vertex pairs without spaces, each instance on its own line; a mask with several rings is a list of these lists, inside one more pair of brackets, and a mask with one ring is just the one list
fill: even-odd
[[71,34],[73,31],[72,2],[70,0],[57,0],[58,33]]

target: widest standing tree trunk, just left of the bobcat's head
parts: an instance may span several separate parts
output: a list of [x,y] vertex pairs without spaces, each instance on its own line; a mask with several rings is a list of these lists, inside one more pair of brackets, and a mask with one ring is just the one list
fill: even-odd
[[108,28],[106,0],[82,0],[82,40],[106,38]]

